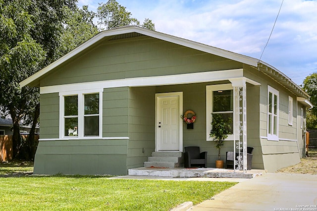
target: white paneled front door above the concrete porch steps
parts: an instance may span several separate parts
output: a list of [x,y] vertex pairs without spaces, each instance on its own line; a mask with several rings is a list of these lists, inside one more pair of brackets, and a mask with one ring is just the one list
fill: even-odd
[[182,93],[156,95],[156,151],[182,151]]

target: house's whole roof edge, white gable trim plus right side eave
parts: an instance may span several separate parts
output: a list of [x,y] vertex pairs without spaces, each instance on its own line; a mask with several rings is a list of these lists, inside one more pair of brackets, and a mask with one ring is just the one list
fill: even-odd
[[199,50],[202,52],[211,53],[211,54],[218,55],[218,56],[221,56],[224,58],[228,58],[228,59],[232,59],[232,60],[235,60],[235,61],[238,61],[241,63],[248,64],[248,65],[254,67],[255,70],[264,72],[264,74],[266,74],[268,77],[270,77],[274,81],[276,81],[279,84],[281,84],[282,86],[284,86],[287,90],[289,90],[291,93],[293,93],[297,97],[309,99],[309,95],[305,91],[303,91],[301,89],[301,87],[299,87],[296,83],[294,83],[289,77],[287,77],[285,74],[283,74],[282,72],[280,72],[279,70],[277,70],[273,66],[270,66],[269,64],[267,64],[259,59],[256,59],[256,58],[253,58],[250,56],[246,56],[246,55],[242,55],[239,53],[225,51],[222,49],[218,49],[218,48],[204,45],[201,43],[197,43],[194,41],[178,38],[175,36],[163,34],[163,33],[157,32],[157,31],[152,31],[152,30],[144,29],[144,28],[137,27],[137,26],[125,26],[125,27],[120,27],[120,28],[100,32],[99,34],[97,34],[96,36],[94,36],[90,40],[86,41],[85,43],[83,43],[82,45],[80,45],[79,47],[74,49],[73,51],[65,54],[64,56],[57,59],[56,61],[54,61],[50,65],[46,66],[42,70],[38,71],[34,75],[32,75],[29,78],[22,81],[20,83],[20,86],[21,87],[24,87],[24,86],[39,87],[40,86],[40,79],[42,77],[44,77],[51,70],[53,70],[55,67],[63,64],[68,59],[72,58],[73,56],[75,56],[79,53],[82,53],[83,51],[85,51],[89,47],[93,46],[94,44],[96,44],[104,39],[108,39],[108,40],[115,39],[117,36],[128,37],[129,35],[131,35],[131,33],[134,33],[134,36],[135,36],[135,33],[140,34],[140,35],[146,35],[146,36],[150,36],[150,37],[164,40],[167,42],[171,42],[174,44],[178,44],[181,46],[185,46],[188,48],[196,49],[196,50]]

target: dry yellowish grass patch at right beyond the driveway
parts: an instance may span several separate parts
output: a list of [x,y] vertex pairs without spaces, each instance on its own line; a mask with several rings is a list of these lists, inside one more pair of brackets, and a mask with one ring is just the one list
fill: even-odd
[[277,172],[317,174],[317,148],[310,148],[308,155],[309,157],[302,158],[300,163],[279,169]]

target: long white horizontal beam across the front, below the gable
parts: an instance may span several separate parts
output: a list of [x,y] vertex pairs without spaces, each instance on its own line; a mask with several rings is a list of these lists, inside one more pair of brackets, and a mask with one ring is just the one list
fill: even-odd
[[95,81],[75,84],[54,85],[40,88],[40,94],[59,93],[65,90],[80,91],[115,87],[162,86],[173,84],[191,84],[243,78],[243,69],[219,70],[179,75],[126,78],[107,81]]

